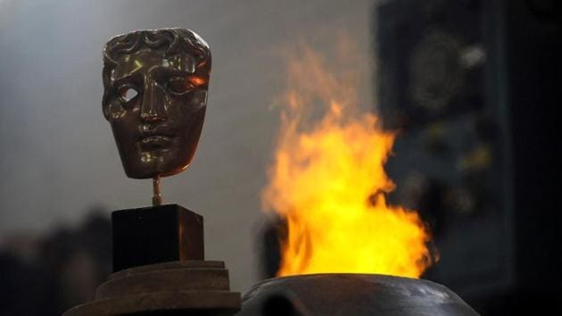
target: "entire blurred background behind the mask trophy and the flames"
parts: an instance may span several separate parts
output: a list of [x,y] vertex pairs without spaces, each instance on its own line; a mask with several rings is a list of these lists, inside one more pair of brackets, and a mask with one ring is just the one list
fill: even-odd
[[0,0],[0,314],[59,315],[111,272],[109,214],[150,204],[151,182],[121,168],[101,50],[166,27],[201,35],[213,70],[198,152],[163,180],[164,202],[204,216],[206,257],[235,290],[278,267],[260,191],[279,51],[298,38],[328,51],[316,39],[337,29],[364,56],[365,108],[399,131],[390,198],[434,232],[441,259],[423,278],[484,315],[555,311],[561,19],[555,0]]

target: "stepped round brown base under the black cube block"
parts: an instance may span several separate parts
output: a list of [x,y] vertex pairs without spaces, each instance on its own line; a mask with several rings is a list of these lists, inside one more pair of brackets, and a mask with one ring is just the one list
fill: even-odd
[[95,301],[63,316],[231,316],[240,293],[230,292],[224,262],[166,262],[113,273],[95,291]]

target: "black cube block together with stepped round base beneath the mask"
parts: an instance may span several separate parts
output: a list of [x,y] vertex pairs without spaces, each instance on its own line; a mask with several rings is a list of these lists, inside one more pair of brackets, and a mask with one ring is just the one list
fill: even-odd
[[112,212],[112,225],[114,273],[94,302],[63,316],[230,316],[240,310],[224,262],[203,261],[199,214],[168,204]]

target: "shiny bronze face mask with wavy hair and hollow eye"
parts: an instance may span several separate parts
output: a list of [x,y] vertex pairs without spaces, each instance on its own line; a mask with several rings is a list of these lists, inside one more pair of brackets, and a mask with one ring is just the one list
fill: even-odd
[[188,29],[137,30],[103,47],[103,115],[129,178],[170,176],[193,159],[207,106],[209,46]]

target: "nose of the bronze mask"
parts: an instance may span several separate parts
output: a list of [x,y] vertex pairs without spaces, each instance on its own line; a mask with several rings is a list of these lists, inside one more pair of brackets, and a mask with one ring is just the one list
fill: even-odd
[[145,80],[145,92],[141,102],[141,120],[145,122],[166,121],[168,111],[166,93],[156,81]]

